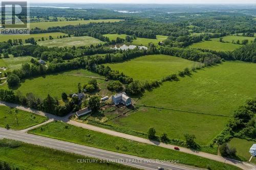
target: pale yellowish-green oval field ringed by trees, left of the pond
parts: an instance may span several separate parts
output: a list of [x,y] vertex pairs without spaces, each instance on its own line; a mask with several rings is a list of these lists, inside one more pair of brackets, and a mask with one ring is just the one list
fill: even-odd
[[83,37],[67,37],[67,38],[59,38],[59,39],[53,39],[53,40],[47,40],[47,41],[38,41],[38,45],[43,46],[88,46],[91,44],[100,44],[102,41],[89,37],[89,36],[83,36]]

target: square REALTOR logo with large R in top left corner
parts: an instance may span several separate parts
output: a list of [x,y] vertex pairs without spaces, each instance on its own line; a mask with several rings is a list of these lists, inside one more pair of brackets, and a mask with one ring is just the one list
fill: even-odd
[[2,1],[1,32],[4,35],[29,34],[29,7],[26,1]]

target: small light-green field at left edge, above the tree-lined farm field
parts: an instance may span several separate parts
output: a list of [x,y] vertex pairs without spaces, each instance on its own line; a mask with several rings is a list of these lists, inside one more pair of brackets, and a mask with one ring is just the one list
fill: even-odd
[[7,67],[8,70],[18,69],[22,67],[22,64],[30,63],[32,57],[12,57],[10,58],[1,58],[0,67]]

